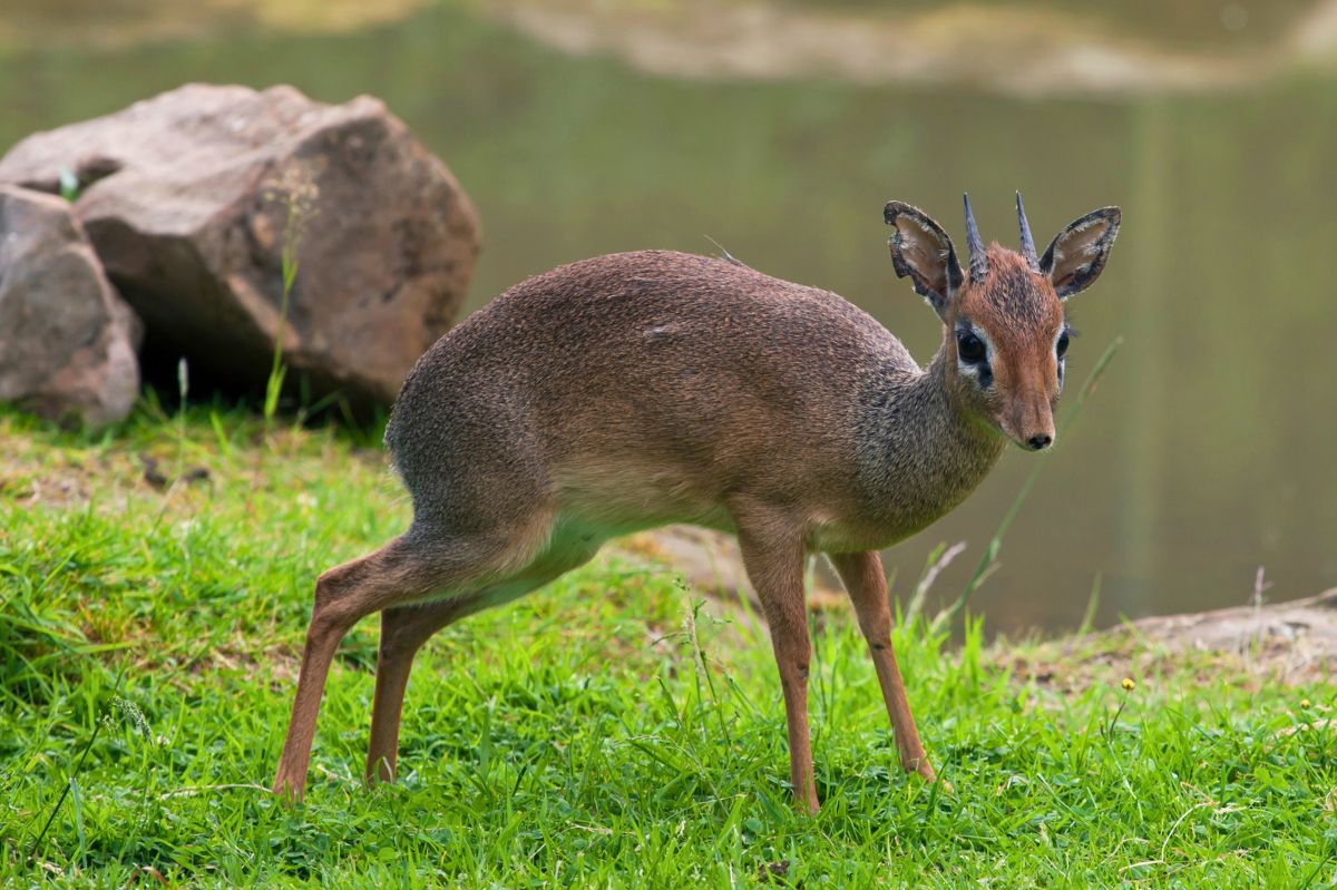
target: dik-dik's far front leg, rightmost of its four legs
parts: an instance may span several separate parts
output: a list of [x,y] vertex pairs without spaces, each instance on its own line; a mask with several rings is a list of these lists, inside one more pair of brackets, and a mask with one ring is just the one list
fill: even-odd
[[849,599],[854,603],[854,613],[858,616],[858,627],[864,632],[864,639],[868,640],[873,668],[877,671],[877,682],[881,684],[882,698],[886,700],[886,712],[892,718],[892,731],[901,755],[901,768],[906,772],[919,772],[932,782],[935,778],[933,764],[928,762],[928,755],[924,754],[924,746],[920,743],[915,716],[910,714],[910,703],[905,696],[901,668],[896,664],[896,653],[892,651],[892,609],[886,603],[886,576],[882,575],[882,560],[876,551],[833,553],[830,560],[840,573],[845,589],[849,591]]

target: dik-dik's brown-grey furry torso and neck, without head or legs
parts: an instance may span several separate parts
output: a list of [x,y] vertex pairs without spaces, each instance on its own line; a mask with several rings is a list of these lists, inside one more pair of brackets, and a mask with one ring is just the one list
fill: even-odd
[[666,251],[564,266],[476,313],[409,374],[386,445],[427,528],[544,504],[615,535],[735,531],[747,496],[801,505],[810,544],[834,524],[865,549],[932,523],[999,450],[852,303]]

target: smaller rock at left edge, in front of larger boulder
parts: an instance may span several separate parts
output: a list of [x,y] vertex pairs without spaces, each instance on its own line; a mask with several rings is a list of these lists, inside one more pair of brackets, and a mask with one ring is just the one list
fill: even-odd
[[0,186],[0,401],[122,420],[139,394],[138,335],[70,204]]

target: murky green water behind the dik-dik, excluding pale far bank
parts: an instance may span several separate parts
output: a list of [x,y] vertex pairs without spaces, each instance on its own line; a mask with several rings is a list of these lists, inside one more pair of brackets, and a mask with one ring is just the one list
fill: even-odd
[[[1072,301],[1070,381],[1115,337],[1126,345],[976,608],[1020,632],[1075,625],[1096,579],[1102,624],[1243,603],[1259,565],[1275,600],[1337,585],[1337,88],[1320,75],[1230,95],[1008,99],[655,78],[451,8],[352,33],[217,19],[151,43],[114,24],[71,37],[36,15],[24,40],[0,27],[0,146],[187,80],[374,94],[479,206],[471,307],[594,254],[714,253],[709,235],[853,299],[927,361],[939,329],[892,273],[886,199],[927,208],[960,242],[969,190],[985,237],[1009,245],[1015,188],[1042,245],[1118,203],[1108,269]],[[43,28],[51,39],[32,40]],[[964,540],[939,580],[955,596],[1032,460],[1007,453],[955,514],[894,548],[900,589],[937,543]]]

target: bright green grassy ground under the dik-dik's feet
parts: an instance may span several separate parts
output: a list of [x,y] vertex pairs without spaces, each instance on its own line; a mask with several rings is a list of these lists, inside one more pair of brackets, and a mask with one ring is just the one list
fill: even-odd
[[[977,625],[953,647],[915,624],[896,641],[944,790],[896,768],[837,616],[813,665],[824,807],[802,818],[763,631],[615,555],[433,640],[402,780],[370,794],[376,625],[360,625],[308,802],[287,808],[265,786],[314,577],[406,521],[378,453],[151,405],[100,437],[0,413],[0,886],[1334,881],[1326,684],[1203,656],[1126,691],[1123,653],[1042,683],[1007,667],[1025,645],[1003,657]],[[155,478],[207,478],[155,486],[142,454]]]

